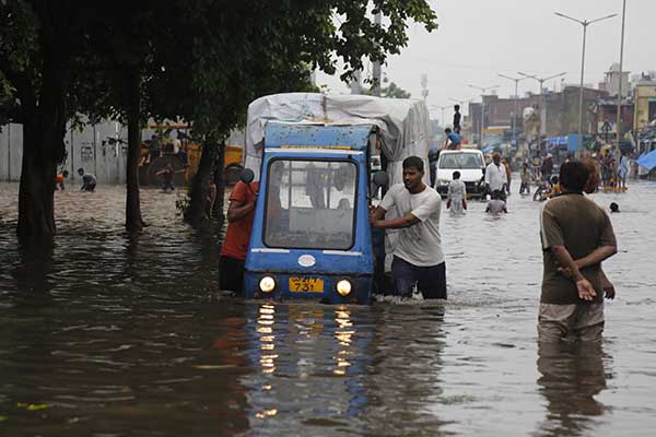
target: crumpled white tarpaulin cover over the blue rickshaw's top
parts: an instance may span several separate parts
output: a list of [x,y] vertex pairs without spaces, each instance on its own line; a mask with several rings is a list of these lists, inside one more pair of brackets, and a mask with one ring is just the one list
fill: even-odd
[[388,158],[390,184],[402,181],[401,162],[420,156],[429,174],[429,110],[423,101],[365,95],[286,93],[260,97],[248,105],[245,166],[259,179],[265,129],[269,120],[326,125],[375,125],[382,153]]

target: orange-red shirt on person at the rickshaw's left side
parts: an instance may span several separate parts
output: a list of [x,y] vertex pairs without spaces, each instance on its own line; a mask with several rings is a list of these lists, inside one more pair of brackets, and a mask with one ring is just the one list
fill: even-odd
[[[259,182],[250,182],[253,192],[259,189]],[[255,196],[246,184],[238,181],[230,194],[231,202],[239,202],[242,204],[254,201]],[[248,243],[250,241],[250,231],[253,229],[253,218],[255,210],[250,211],[241,220],[227,224],[225,239],[221,247],[221,256],[230,257],[238,260],[245,260],[248,252]]]

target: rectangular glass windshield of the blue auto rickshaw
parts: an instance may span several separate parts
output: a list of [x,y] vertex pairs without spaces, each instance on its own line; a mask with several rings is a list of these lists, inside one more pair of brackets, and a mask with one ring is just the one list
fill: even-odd
[[350,249],[356,174],[355,164],[349,161],[272,161],[267,177],[265,245]]

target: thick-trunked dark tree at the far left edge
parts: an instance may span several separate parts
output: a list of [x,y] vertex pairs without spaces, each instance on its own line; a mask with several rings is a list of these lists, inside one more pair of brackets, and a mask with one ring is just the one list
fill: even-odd
[[54,184],[65,157],[70,59],[82,40],[80,23],[93,4],[62,0],[0,3],[0,71],[5,120],[23,125],[19,192],[21,245],[48,245],[55,234]]

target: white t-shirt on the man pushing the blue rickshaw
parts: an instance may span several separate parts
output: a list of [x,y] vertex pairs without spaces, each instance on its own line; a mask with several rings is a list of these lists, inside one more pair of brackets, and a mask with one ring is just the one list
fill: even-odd
[[399,229],[394,255],[419,267],[437,265],[444,262],[440,213],[442,198],[431,187],[411,194],[403,184],[389,188],[379,204],[385,211],[396,210],[398,216],[411,212],[420,223]]

